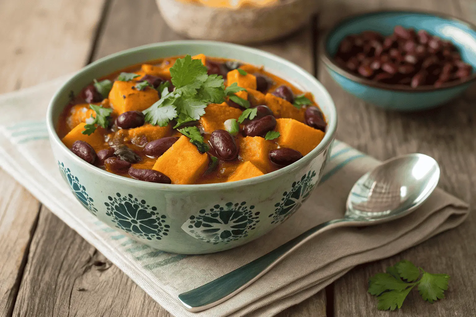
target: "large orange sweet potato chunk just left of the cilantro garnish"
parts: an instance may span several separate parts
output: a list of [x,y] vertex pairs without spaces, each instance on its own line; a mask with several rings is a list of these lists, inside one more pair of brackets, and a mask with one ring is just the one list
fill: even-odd
[[159,100],[157,90],[147,87],[145,90],[133,89],[136,81],[115,81],[109,92],[109,101],[114,108],[113,113],[120,115],[126,111],[142,111]]

